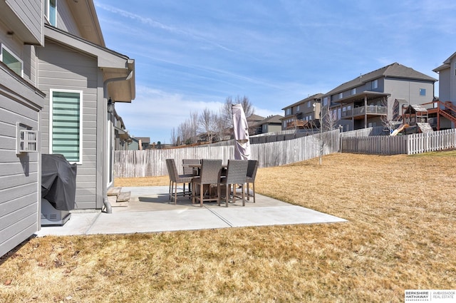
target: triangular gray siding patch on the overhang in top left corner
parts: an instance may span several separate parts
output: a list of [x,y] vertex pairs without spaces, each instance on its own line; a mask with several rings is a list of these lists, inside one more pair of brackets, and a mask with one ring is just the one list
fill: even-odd
[[43,43],[43,6],[37,0],[6,0],[6,4],[27,27],[33,37]]

